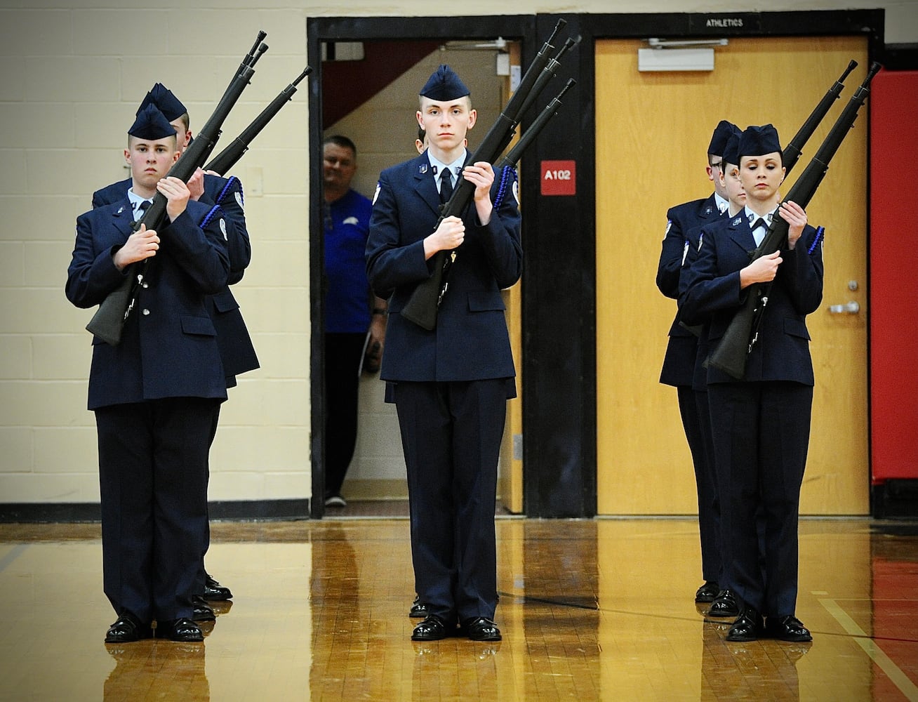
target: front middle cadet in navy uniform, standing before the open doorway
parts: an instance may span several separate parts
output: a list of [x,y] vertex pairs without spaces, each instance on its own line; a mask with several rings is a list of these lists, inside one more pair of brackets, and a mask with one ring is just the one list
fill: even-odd
[[[415,585],[428,611],[411,638],[442,639],[458,624],[474,641],[498,641],[494,506],[507,399],[516,393],[500,290],[521,275],[516,179],[512,169],[496,177],[490,163],[466,164],[476,111],[449,66],[421,89],[417,117],[430,147],[380,174],[366,246],[370,284],[391,295],[380,376],[397,408]],[[460,175],[475,184],[474,203],[436,227]],[[401,317],[431,275],[431,256],[456,249],[435,329]]]

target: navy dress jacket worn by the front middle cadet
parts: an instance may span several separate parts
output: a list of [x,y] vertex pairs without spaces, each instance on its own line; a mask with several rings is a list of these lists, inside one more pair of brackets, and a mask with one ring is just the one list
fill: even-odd
[[495,173],[494,211],[487,225],[470,202],[465,241],[449,271],[436,328],[429,331],[399,312],[431,275],[423,240],[440,215],[440,196],[426,151],[379,176],[366,244],[367,278],[390,297],[380,377],[386,381],[469,381],[516,373],[504,318],[502,288],[520,279],[522,247],[516,173]]

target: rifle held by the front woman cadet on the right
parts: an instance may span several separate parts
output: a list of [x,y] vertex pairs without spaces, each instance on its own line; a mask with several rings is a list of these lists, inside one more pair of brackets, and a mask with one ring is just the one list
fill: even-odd
[[[785,202],[795,202],[803,208],[810,204],[812,196],[816,194],[816,189],[823,182],[825,173],[829,170],[829,162],[832,161],[845,136],[854,127],[857,111],[864,105],[870,93],[870,81],[880,68],[882,66],[877,62],[871,64],[864,82],[860,84],[842,114],[835,120],[832,130],[823,140],[823,145],[813,156],[806,170],[790,188],[788,196],[784,199]],[[776,212],[775,217],[771,219],[765,239],[755,251],[750,253],[750,261],[755,261],[761,256],[767,256],[784,247],[788,240],[788,229],[788,223]],[[765,313],[771,285],[772,283],[760,283],[749,286],[743,306],[733,315],[717,348],[708,356],[706,361],[708,365],[737,380],[743,378],[746,358],[758,340],[758,326]]]

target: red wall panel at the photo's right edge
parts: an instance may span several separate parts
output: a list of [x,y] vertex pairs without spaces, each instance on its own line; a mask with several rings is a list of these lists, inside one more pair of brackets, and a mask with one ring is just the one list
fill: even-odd
[[870,85],[871,480],[918,478],[918,71]]

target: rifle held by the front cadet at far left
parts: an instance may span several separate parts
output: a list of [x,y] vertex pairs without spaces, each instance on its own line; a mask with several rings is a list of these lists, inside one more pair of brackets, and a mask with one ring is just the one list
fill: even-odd
[[[242,61],[240,71],[233,76],[213,114],[197,133],[197,137],[185,149],[182,157],[169,169],[169,173],[166,173],[166,177],[174,176],[187,183],[198,167],[207,161],[207,156],[213,150],[217,139],[219,139],[220,128],[229,115],[229,110],[239,100],[245,86],[249,84],[249,79],[254,73],[255,62],[268,48],[262,43],[262,39],[265,36],[264,32],[259,32],[259,38],[256,40],[252,50],[246,55],[245,60]],[[151,206],[147,208],[143,217],[140,217],[132,225],[132,230],[140,230],[140,225],[146,225],[147,229],[161,228],[166,220],[167,204],[166,196],[157,192],[153,196]],[[106,299],[102,301],[95,311],[93,318],[89,320],[89,324],[86,325],[87,331],[92,332],[110,346],[117,346],[120,343],[124,323],[128,319],[130,310],[134,305],[137,289],[142,283],[143,276],[146,274],[149,265],[150,259],[146,259],[142,263],[131,263],[128,266],[122,283],[106,296]]]

